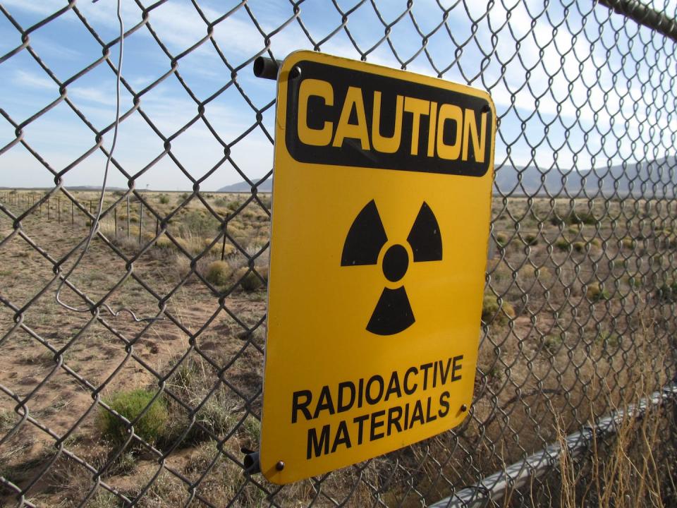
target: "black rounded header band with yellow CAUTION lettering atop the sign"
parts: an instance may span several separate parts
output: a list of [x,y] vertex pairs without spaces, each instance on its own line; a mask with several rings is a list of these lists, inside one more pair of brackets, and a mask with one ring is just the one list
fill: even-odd
[[314,61],[295,69],[285,142],[298,162],[461,176],[489,169],[487,99]]

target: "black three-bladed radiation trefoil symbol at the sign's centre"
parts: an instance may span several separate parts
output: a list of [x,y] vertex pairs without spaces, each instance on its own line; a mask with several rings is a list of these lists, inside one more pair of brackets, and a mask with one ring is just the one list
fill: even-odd
[[[371,200],[362,208],[350,226],[343,244],[341,266],[377,265],[379,254],[388,242],[388,236],[379,216],[376,202]],[[407,242],[411,247],[414,262],[441,261],[442,238],[437,219],[427,202],[411,226]],[[390,282],[400,281],[409,267],[408,250],[401,244],[391,245],[382,260],[383,274]],[[404,285],[396,289],[385,287],[376,308],[367,323],[367,332],[377,335],[394,335],[415,322]]]

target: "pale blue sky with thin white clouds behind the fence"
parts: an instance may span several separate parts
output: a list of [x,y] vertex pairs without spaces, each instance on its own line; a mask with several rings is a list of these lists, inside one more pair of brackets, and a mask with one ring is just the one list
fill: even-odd
[[[269,174],[276,85],[255,78],[250,61],[267,49],[283,59],[316,45],[328,54],[364,55],[395,68],[405,63],[408,71],[488,90],[500,119],[499,167],[535,164],[566,172],[674,155],[675,43],[589,0],[547,7],[543,1],[498,1],[489,13],[471,0],[416,0],[410,11],[405,1],[305,0],[298,16],[288,0],[195,3],[199,11],[189,0],[122,0],[126,30],[147,16],[124,42],[122,75],[139,94],[140,110],[121,122],[114,152],[137,188],[189,190],[214,167],[200,183],[202,190],[242,181],[238,170],[252,181]],[[99,131],[112,123],[115,73],[78,14],[108,44],[118,34],[116,0],[77,1],[77,12],[66,8],[66,0],[0,4],[20,29],[30,31],[32,52],[53,75],[28,49],[4,61],[0,56],[0,150],[16,139],[5,116],[15,123],[30,120],[59,99],[60,84],[66,83],[73,107],[57,102],[23,127],[23,139],[51,169],[65,171],[64,185],[99,186],[106,158],[92,150],[96,135],[77,112]],[[676,17],[677,0],[651,5]],[[29,30],[63,8],[60,16]],[[213,42],[191,49],[207,35],[207,22]],[[0,55],[21,43],[18,28],[0,13]],[[117,54],[115,44],[114,65]],[[237,69],[234,81],[223,59]],[[171,73],[172,61],[193,97]],[[124,114],[133,97],[123,88],[121,99]],[[200,104],[209,125],[195,121]],[[265,129],[255,125],[257,110]],[[171,140],[170,153],[144,116]],[[109,131],[104,146],[111,141]],[[227,159],[224,145],[230,146]],[[20,143],[0,155],[0,186],[53,185],[54,175]],[[109,185],[126,188],[127,177],[112,167]]]

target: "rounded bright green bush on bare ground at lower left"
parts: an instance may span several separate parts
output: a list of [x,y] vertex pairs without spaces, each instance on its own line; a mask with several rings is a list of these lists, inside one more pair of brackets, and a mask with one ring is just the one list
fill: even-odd
[[[105,402],[113,411],[121,414],[128,421],[138,418],[150,404],[145,414],[135,423],[134,433],[145,442],[154,444],[164,438],[169,421],[166,402],[162,397],[152,401],[154,395],[153,392],[145,389],[133,389],[117,392]],[[125,423],[107,409],[99,409],[98,425],[104,437],[115,442],[126,440]]]

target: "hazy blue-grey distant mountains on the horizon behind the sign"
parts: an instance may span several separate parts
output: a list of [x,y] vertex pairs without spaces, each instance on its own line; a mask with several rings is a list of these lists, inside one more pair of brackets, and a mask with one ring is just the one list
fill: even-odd
[[[673,198],[677,187],[677,157],[664,157],[651,162],[622,164],[606,168],[577,171],[551,169],[546,166],[511,166],[496,168],[496,186],[503,194],[560,195],[584,197],[602,191],[605,196],[655,196]],[[217,192],[250,192],[247,182],[221,187]],[[260,192],[272,191],[272,179],[258,186]],[[566,190],[566,193],[565,193]]]

